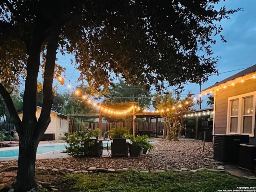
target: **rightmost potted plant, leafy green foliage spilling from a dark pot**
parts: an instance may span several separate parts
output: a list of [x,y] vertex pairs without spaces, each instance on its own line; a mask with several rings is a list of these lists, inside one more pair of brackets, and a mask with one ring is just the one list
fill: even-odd
[[144,150],[144,154],[150,150],[153,145],[148,141],[148,136],[147,135],[142,135],[142,136],[136,136],[134,137],[133,135],[128,135],[126,138],[130,139],[130,144],[129,144],[129,152],[131,157],[138,157],[140,154],[142,154]]

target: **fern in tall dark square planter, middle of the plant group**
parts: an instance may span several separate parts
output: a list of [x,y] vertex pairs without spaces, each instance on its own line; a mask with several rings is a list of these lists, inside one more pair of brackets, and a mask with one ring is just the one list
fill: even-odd
[[111,143],[111,156],[128,157],[128,143],[125,138],[128,130],[124,127],[112,128],[108,134],[113,140]]

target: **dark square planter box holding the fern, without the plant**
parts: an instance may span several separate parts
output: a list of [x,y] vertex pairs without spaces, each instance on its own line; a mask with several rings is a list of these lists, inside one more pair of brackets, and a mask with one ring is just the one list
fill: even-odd
[[113,139],[111,143],[111,157],[128,157],[128,143],[126,139]]

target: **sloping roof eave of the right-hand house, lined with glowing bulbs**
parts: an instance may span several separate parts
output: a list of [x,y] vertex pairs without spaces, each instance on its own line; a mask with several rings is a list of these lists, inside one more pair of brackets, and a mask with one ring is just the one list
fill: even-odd
[[[231,85],[231,83],[234,82],[240,82],[242,79],[243,80],[248,80],[251,79],[256,72],[256,64],[246,68],[245,70],[242,70],[240,72],[238,72],[237,74],[234,74],[220,82],[216,82],[214,85],[202,90],[202,93],[204,92],[209,92],[210,90],[214,89],[214,88],[224,88],[224,85],[227,84],[228,82],[230,82],[230,84],[227,84],[227,86]],[[254,76],[255,78],[255,76]]]

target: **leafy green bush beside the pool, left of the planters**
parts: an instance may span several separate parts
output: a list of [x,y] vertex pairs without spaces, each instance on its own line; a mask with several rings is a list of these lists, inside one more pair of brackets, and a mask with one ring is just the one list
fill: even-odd
[[69,138],[64,138],[69,146],[65,146],[68,155],[72,157],[83,158],[90,153],[90,146],[94,144],[92,137],[98,136],[99,130],[83,130],[79,132],[73,132]]

